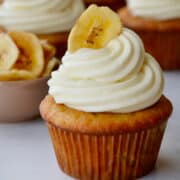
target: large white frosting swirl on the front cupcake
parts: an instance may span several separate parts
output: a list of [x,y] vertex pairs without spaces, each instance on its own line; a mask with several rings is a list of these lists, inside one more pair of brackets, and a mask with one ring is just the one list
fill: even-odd
[[48,82],[56,103],[86,112],[134,112],[156,103],[163,76],[131,30],[98,50],[67,52]]

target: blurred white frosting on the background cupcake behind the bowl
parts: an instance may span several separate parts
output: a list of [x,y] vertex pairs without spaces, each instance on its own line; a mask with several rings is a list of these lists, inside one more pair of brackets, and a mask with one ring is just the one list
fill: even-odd
[[37,34],[69,31],[84,10],[82,0],[5,0],[0,25]]

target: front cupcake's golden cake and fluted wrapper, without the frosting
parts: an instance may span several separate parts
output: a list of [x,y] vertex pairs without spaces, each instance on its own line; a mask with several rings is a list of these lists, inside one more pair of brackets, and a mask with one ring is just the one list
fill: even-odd
[[134,113],[88,113],[56,104],[40,105],[60,168],[82,180],[132,180],[155,166],[172,105],[164,96]]

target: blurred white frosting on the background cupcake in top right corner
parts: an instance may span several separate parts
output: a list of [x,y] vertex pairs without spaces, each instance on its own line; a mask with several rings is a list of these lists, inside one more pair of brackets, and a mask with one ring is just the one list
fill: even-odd
[[157,20],[180,18],[180,0],[127,0],[136,16]]

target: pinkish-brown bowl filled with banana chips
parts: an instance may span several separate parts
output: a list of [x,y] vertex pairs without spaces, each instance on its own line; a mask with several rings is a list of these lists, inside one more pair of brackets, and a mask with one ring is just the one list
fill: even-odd
[[0,33],[0,122],[30,120],[48,92],[47,80],[59,65],[55,48],[34,34]]

